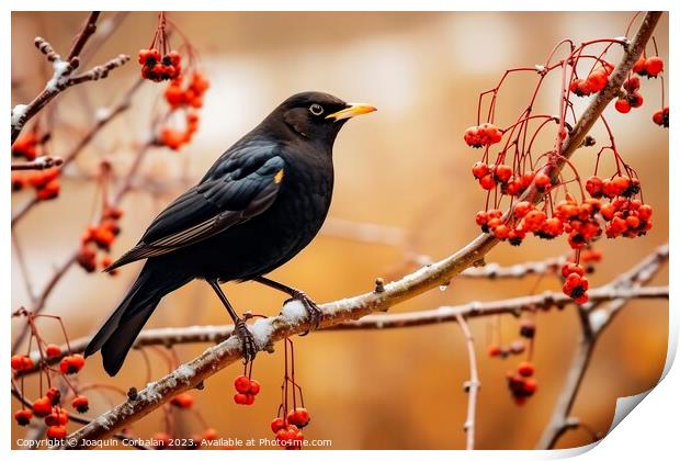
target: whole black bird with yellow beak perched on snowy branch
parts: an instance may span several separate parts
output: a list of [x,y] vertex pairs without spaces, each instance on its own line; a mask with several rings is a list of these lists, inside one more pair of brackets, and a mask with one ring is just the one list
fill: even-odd
[[373,111],[321,92],[298,93],[279,105],[106,269],[147,259],[86,356],[101,349],[104,369],[116,374],[160,300],[193,279],[209,283],[229,312],[246,361],[254,358],[257,347],[220,282],[252,280],[285,292],[318,323],[319,308],[304,292],[263,276],[319,232],[332,195],[336,136],[349,119]]

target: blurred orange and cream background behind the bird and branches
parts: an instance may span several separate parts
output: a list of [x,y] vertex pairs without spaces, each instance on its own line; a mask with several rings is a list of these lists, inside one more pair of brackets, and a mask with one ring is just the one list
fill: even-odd
[[[105,21],[114,13],[104,13]],[[66,53],[87,14],[12,14],[12,104],[32,99],[52,69],[33,46],[36,35]],[[114,259],[132,247],[151,218],[188,184],[195,182],[227,147],[257,125],[276,104],[304,90],[321,90],[348,101],[374,104],[378,112],[354,120],[335,146],[336,191],[328,226],[315,241],[285,267],[272,273],[281,282],[304,289],[318,302],[369,291],[376,277],[395,279],[410,271],[412,252],[433,259],[445,257],[474,238],[476,211],[485,196],[473,181],[471,166],[478,151],[462,139],[476,124],[477,98],[492,88],[511,67],[544,63],[564,37],[575,43],[624,34],[630,13],[169,13],[200,53],[200,68],[211,80],[201,127],[181,149],[154,148],[145,158],[137,190],[122,206],[123,232],[113,246]],[[102,81],[69,89],[53,102],[53,155],[64,155],[92,125],[98,108],[120,100],[138,78],[136,55],[146,48],[156,29],[156,13],[128,14],[91,57],[98,64],[120,53],[133,60]],[[100,31],[101,33],[101,31]],[[656,31],[659,54],[667,59],[668,16]],[[180,34],[172,36],[180,43]],[[564,48],[563,48],[564,53]],[[619,55],[611,54],[616,61]],[[509,125],[524,109],[535,76],[509,80],[499,93],[497,120]],[[78,247],[97,205],[93,181],[99,161],[107,158],[122,175],[135,145],[148,138],[150,117],[163,104],[165,85],[145,82],[125,114],[105,127],[65,175],[60,196],[36,206],[15,227],[18,241],[36,289],[49,279]],[[555,113],[558,81],[548,79],[535,105]],[[591,285],[610,281],[668,239],[668,131],[650,121],[660,109],[660,83],[644,80],[645,103],[626,115],[607,110],[624,158],[637,170],[645,201],[655,209],[654,229],[644,238],[602,239],[604,259]],[[576,101],[582,109],[587,100]],[[598,126],[593,136],[602,145]],[[545,139],[545,149],[552,143]],[[590,176],[598,148],[575,156],[582,175]],[[607,166],[607,164],[605,164]],[[32,192],[13,194],[20,210]],[[366,225],[369,232],[366,234]],[[501,265],[564,255],[564,238],[529,238],[521,247],[499,245],[487,258]],[[14,255],[15,256],[15,255]],[[12,304],[30,300],[16,257],[12,261]],[[87,274],[71,268],[49,297],[46,313],[60,315],[70,338],[87,336],[116,306],[140,265],[123,268],[116,277]],[[667,272],[655,279],[667,283]],[[473,300],[498,300],[544,290],[559,290],[554,278],[515,281],[454,280],[445,291],[433,290],[390,312],[453,305]],[[228,285],[226,293],[241,312],[265,315],[279,312],[283,296],[258,284]],[[193,282],[162,301],[148,328],[223,324],[224,308],[205,283]],[[477,448],[531,449],[551,415],[578,340],[574,308],[539,314],[534,361],[539,391],[517,406],[507,390],[506,371],[518,358],[488,359],[490,325],[497,319],[474,319],[483,390],[477,407]],[[45,322],[43,335],[61,342],[56,327]],[[21,323],[13,321],[13,334]],[[518,336],[518,321],[503,317],[500,334]],[[578,394],[574,415],[594,430],[610,427],[616,397],[654,386],[666,360],[668,303],[630,303],[598,344]],[[296,375],[305,392],[313,423],[307,438],[330,439],[335,449],[461,449],[466,412],[462,383],[468,379],[463,337],[455,324],[386,331],[329,331],[294,338]],[[199,355],[206,345],[177,347],[181,360]],[[256,405],[233,403],[233,380],[239,366],[217,373],[202,392],[193,392],[196,408],[220,436],[256,439],[270,437],[269,424],[280,402],[282,349],[261,353],[254,378],[262,383]],[[162,351],[161,351],[162,352]],[[152,358],[150,376],[168,371],[162,353]],[[122,372],[109,378],[100,357],[88,360],[82,383],[105,383],[141,389],[149,379],[139,352],[131,352]],[[27,380],[27,393],[36,393]],[[31,394],[33,392],[33,394]],[[122,401],[116,392],[91,393],[89,416]],[[16,407],[12,402],[13,408]],[[177,412],[175,412],[177,413]],[[24,430],[13,421],[13,439]],[[71,425],[75,429],[77,426]],[[134,425],[134,434],[149,437],[163,429],[156,412]],[[175,435],[202,430],[194,414],[178,414]],[[590,442],[587,431],[568,432],[560,448]]]

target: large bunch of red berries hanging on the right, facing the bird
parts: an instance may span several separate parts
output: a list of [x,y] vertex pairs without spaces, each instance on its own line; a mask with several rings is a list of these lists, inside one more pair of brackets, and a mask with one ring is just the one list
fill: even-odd
[[[541,239],[566,236],[574,251],[574,261],[565,266],[563,291],[579,303],[588,301],[588,279],[585,266],[580,265],[581,251],[602,235],[633,238],[651,228],[651,207],[643,201],[641,180],[623,159],[604,116],[601,122],[611,143],[597,153],[594,172],[586,175],[589,177],[586,181],[579,171],[582,167],[577,168],[560,151],[569,136],[570,124],[577,119],[571,99],[575,95],[590,97],[607,88],[614,71],[614,66],[605,59],[607,54],[612,47],[626,44],[621,38],[583,42],[571,46],[563,59],[556,58],[559,49],[556,48],[545,65],[508,70],[496,88],[480,94],[477,124],[463,135],[468,146],[483,148],[481,158],[472,167],[473,177],[486,193],[485,209],[475,215],[476,224],[483,232],[513,246],[521,245],[530,235]],[[604,49],[593,49],[597,46]],[[587,74],[579,78],[581,69],[587,69]],[[622,85],[616,109],[627,112],[641,106],[641,76],[661,77],[662,70],[664,61],[658,56],[641,58]],[[535,72],[537,82],[528,109],[509,126],[500,127],[495,121],[499,90],[507,77],[514,72]],[[552,72],[566,76],[562,79],[560,112],[557,115],[533,113],[536,98]],[[485,110],[487,95],[491,99],[488,111]],[[657,112],[654,122],[667,125],[668,109]],[[540,135],[551,125],[557,125],[554,144],[544,154],[535,156],[533,151],[542,138]],[[587,137],[581,148],[594,144],[594,138]],[[614,170],[607,175],[598,171],[604,168],[600,168],[600,158],[605,154],[611,154],[615,164]],[[559,162],[566,164],[564,171],[553,168]],[[496,356],[502,352],[500,347],[489,351]]]

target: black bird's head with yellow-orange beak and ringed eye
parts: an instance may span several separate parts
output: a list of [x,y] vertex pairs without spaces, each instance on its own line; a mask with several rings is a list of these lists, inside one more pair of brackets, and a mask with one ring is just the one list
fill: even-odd
[[375,110],[372,105],[348,103],[328,93],[308,91],[283,101],[271,116],[283,119],[297,136],[330,147],[348,120]]

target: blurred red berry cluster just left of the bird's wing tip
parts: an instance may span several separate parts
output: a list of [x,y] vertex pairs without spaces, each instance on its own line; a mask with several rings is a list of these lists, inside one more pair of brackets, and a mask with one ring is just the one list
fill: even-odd
[[[101,220],[98,224],[92,224],[83,232],[80,237],[80,249],[78,251],[78,263],[87,272],[97,270],[97,252],[104,251],[100,258],[99,266],[106,269],[111,266],[111,245],[113,245],[116,236],[121,233],[118,220],[123,216],[123,210],[117,206],[106,206],[102,212]],[[112,276],[115,271],[109,272]]]

